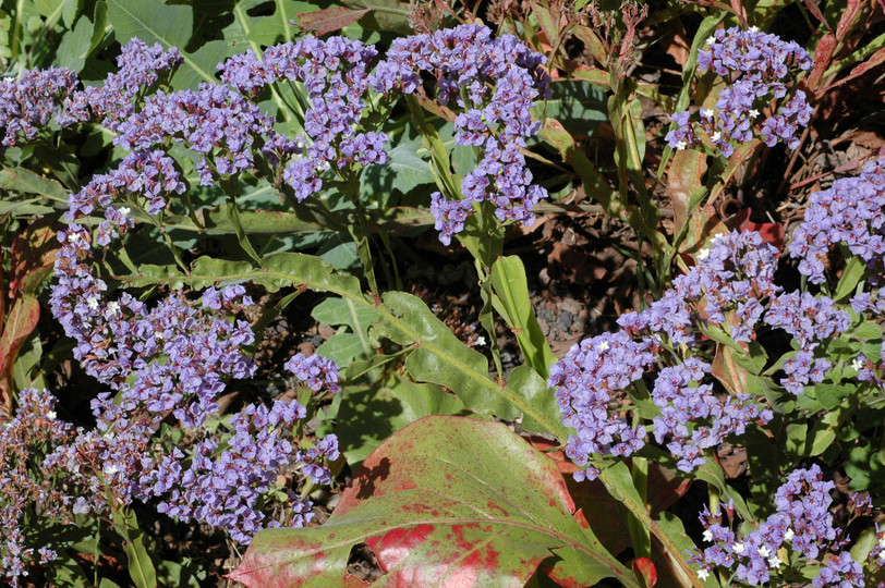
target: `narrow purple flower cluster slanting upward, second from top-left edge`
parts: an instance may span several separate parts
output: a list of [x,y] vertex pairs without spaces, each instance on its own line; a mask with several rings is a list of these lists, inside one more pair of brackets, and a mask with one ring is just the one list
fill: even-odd
[[101,86],[71,91],[56,121],[68,126],[95,118],[117,132],[135,113],[135,98],[161,76],[171,75],[182,62],[181,53],[174,47],[166,51],[160,44],[149,47],[133,38],[117,58],[119,71],[109,74]]

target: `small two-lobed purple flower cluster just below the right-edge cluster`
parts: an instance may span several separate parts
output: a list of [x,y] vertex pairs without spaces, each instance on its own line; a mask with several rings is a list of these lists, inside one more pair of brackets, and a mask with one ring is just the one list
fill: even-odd
[[765,313],[765,322],[784,329],[799,343],[796,357],[784,363],[787,378],[780,380],[789,392],[801,394],[803,384],[824,381],[832,362],[814,357],[819,342],[848,330],[848,314],[833,307],[826,296],[815,297],[808,292],[780,294],[772,299]]

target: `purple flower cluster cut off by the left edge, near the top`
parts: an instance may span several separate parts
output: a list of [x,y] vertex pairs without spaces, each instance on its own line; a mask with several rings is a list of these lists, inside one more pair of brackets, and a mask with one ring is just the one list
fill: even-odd
[[22,138],[33,140],[77,82],[76,74],[64,68],[28,70],[19,79],[0,81],[3,146],[14,147]]

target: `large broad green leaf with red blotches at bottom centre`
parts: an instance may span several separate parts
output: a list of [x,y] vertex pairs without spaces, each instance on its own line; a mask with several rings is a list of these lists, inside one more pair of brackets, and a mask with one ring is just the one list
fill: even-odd
[[366,542],[396,586],[523,586],[560,550],[581,586],[640,586],[575,518],[556,464],[506,426],[426,417],[388,439],[322,527],[259,532],[230,575],[246,586],[347,586]]

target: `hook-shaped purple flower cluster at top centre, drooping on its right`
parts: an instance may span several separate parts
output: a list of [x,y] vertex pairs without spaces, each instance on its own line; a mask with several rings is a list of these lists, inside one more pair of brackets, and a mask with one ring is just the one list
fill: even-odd
[[421,73],[429,72],[436,77],[437,102],[461,111],[454,120],[456,144],[483,147],[482,161],[461,184],[463,199],[432,196],[444,244],[463,230],[473,203],[490,203],[500,221],[534,222],[531,210],[547,193],[532,184],[520,148],[541,128],[531,108],[548,94],[545,62],[512,35],[493,39],[484,26],[461,25],[396,39],[372,74],[377,91],[413,94],[423,90]]

